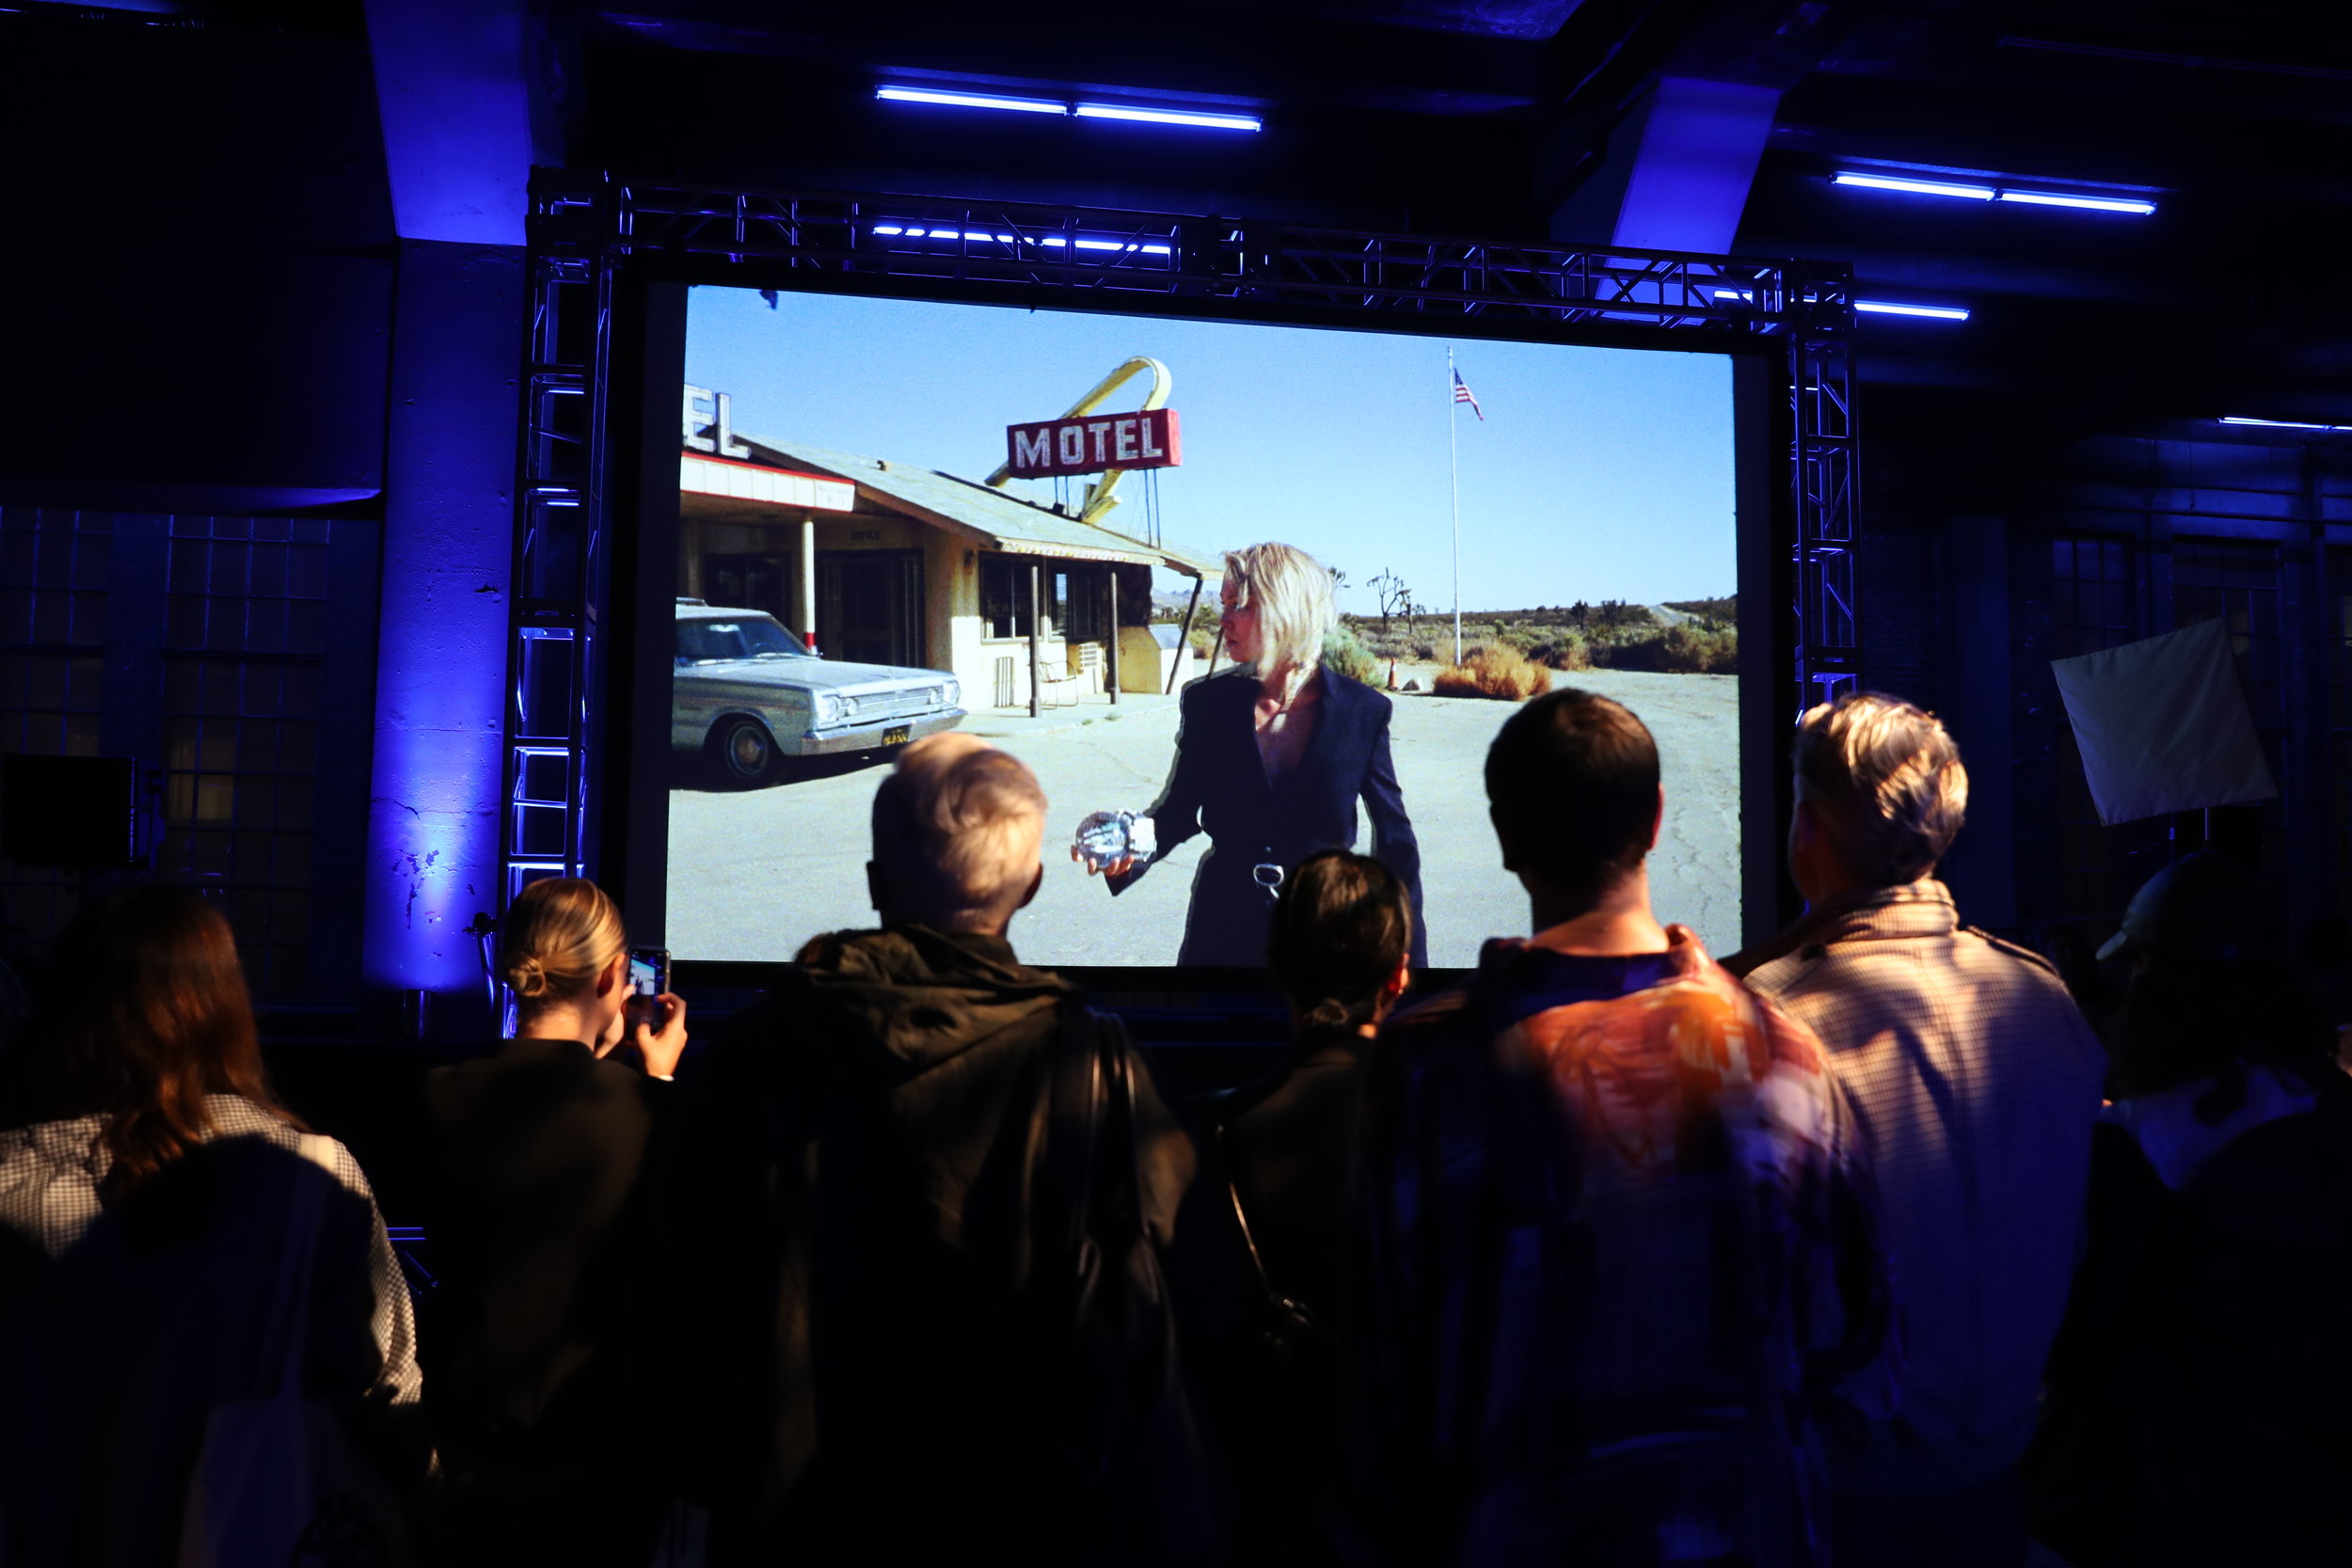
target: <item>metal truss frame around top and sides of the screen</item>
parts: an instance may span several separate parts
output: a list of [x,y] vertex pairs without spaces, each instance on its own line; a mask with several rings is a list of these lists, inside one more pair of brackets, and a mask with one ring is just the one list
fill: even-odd
[[[1797,703],[1860,679],[1853,280],[1839,263],[1437,240],[957,197],[539,172],[515,503],[506,886],[586,870],[604,604],[604,364],[623,266],[746,287],[1279,320],[1376,313],[1771,339],[1790,386]],[[1399,322],[1402,324],[1402,322]],[[1696,343],[1693,343],[1696,346]],[[1726,348],[1731,343],[1724,343]]]

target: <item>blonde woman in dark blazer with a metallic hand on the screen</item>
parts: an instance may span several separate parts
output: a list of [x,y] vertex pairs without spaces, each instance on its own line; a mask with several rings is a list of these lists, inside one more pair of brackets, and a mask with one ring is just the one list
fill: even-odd
[[[1414,905],[1411,961],[1428,964],[1421,844],[1388,738],[1392,703],[1322,663],[1331,571],[1296,545],[1249,545],[1225,555],[1221,595],[1218,635],[1235,665],[1185,686],[1176,762],[1160,799],[1134,813],[1131,851],[1098,860],[1073,846],[1073,858],[1117,896],[1207,832],[1176,961],[1256,966],[1284,877],[1317,851],[1355,849],[1362,802],[1371,856]],[[1080,839],[1110,816],[1080,823]]]

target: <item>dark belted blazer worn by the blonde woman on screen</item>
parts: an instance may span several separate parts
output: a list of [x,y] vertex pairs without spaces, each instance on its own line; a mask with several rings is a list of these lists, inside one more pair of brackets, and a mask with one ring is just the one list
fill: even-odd
[[1178,964],[1265,964],[1272,900],[1251,879],[1261,863],[1284,870],[1322,849],[1355,849],[1355,804],[1371,818],[1371,856],[1397,872],[1414,898],[1414,966],[1430,961],[1421,919],[1421,844],[1404,816],[1404,790],[1388,748],[1392,703],[1359,679],[1322,672],[1322,703],[1308,750],[1279,783],[1265,783],[1254,710],[1258,679],[1244,668],[1183,689],[1176,764],[1150,809],[1160,832],[1152,860],[1110,879],[1122,893],[1195,832],[1209,853],[1192,872]]

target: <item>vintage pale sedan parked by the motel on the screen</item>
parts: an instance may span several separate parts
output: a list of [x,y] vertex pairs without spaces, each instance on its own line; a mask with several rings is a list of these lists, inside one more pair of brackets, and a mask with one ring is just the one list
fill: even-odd
[[764,780],[779,757],[877,752],[955,729],[964,689],[946,670],[818,658],[757,609],[677,602],[670,745],[722,778]]

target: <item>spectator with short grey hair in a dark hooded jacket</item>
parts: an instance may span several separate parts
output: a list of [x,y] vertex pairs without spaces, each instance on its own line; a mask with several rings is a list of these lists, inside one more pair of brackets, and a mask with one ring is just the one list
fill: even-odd
[[880,929],[807,943],[701,1067],[661,1279],[713,1561],[1211,1556],[1145,1288],[1192,1145],[1120,1020],[1014,954],[1044,813],[974,736],[906,748]]

